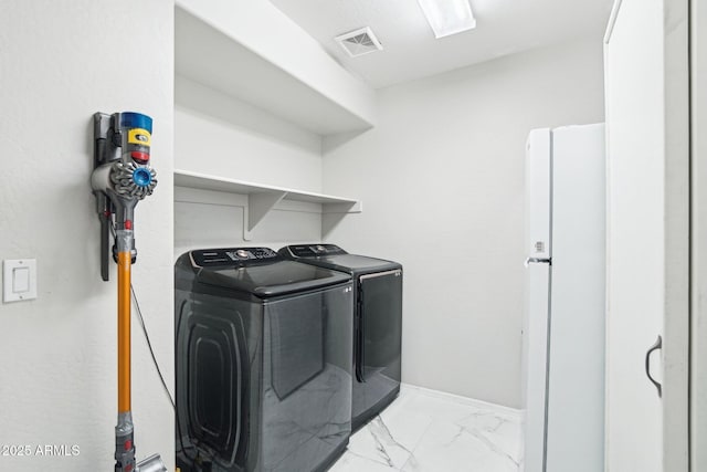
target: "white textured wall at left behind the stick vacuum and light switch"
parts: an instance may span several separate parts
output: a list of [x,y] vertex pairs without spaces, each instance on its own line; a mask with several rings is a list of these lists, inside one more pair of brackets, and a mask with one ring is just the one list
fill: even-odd
[[[173,3],[2,7],[0,259],[38,259],[39,298],[0,304],[0,444],[76,444],[80,455],[0,455],[0,470],[113,470],[117,289],[114,268],[109,283],[99,274],[92,115],[155,120],[159,185],[136,210],[134,285],[171,385]],[[133,319],[137,455],[159,452],[173,470],[172,408]]]

